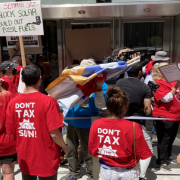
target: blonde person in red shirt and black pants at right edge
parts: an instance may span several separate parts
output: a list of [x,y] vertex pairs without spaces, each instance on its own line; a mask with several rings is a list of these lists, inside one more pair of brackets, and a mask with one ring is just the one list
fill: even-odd
[[171,157],[172,144],[176,138],[180,120],[180,81],[167,83],[164,80],[158,68],[165,65],[168,63],[156,63],[152,70],[153,80],[160,85],[154,93],[153,116],[165,118],[164,121],[156,121],[158,137],[156,165],[171,171],[169,164],[174,163]]

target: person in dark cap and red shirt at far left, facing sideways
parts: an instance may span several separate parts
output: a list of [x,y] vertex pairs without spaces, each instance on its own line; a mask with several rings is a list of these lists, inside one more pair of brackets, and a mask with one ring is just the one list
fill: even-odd
[[0,70],[3,74],[1,79],[3,79],[4,83],[2,84],[2,87],[11,93],[11,98],[14,98],[15,96],[18,95],[16,86],[13,84],[11,77],[13,75],[16,75],[17,70],[16,68],[18,67],[17,64],[14,64],[10,61],[4,61],[0,65]]

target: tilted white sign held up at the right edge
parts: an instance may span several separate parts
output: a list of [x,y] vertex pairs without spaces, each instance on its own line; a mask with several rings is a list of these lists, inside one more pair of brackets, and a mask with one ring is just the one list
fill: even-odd
[[167,82],[180,80],[180,70],[176,64],[159,67],[159,70]]

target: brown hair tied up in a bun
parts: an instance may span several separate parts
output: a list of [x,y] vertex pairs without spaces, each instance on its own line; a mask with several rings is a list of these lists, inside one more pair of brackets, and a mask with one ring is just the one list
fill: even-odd
[[106,107],[116,117],[123,117],[128,110],[128,97],[119,87],[110,86],[107,89]]

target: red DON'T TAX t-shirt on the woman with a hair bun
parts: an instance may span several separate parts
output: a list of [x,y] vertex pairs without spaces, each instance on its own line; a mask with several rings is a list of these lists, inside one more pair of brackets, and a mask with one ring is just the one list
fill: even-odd
[[[137,163],[139,159],[152,156],[141,126],[137,123],[135,123],[135,145]],[[125,119],[96,120],[90,129],[89,153],[110,166],[134,167],[133,122]]]

